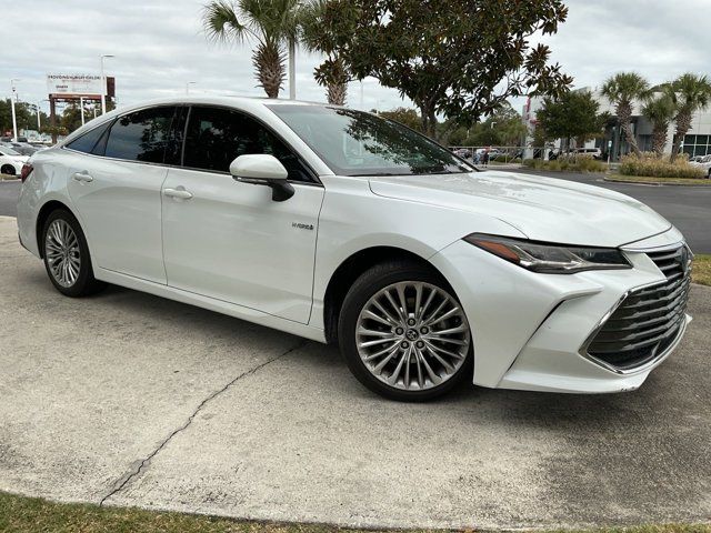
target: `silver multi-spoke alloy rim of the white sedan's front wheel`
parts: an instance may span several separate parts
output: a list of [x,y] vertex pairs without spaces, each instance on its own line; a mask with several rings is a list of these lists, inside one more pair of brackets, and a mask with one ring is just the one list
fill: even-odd
[[424,391],[457,374],[471,338],[454,298],[437,285],[405,281],[368,300],[358,316],[356,342],[373,376],[395,389]]

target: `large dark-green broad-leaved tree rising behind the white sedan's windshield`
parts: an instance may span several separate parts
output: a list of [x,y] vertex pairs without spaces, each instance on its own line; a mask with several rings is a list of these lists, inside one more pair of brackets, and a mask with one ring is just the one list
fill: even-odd
[[547,46],[529,44],[565,20],[561,0],[329,1],[347,13],[331,28],[347,70],[408,97],[431,137],[438,114],[472,124],[510,97],[557,94],[572,83],[549,64]]

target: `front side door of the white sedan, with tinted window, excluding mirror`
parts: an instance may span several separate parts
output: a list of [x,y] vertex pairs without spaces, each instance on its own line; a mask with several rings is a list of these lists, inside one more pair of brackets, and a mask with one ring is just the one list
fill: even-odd
[[[296,193],[236,181],[234,158],[270,153]],[[237,110],[192,107],[182,168],[163,184],[163,258],[168,284],[307,323],[323,188],[303,160],[257,119]]]

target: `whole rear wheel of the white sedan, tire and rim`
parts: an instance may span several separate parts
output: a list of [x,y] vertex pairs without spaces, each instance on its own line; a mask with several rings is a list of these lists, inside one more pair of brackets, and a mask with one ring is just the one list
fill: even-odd
[[67,296],[86,296],[106,286],[93,276],[87,239],[69,211],[50,213],[42,229],[44,268],[50,281]]

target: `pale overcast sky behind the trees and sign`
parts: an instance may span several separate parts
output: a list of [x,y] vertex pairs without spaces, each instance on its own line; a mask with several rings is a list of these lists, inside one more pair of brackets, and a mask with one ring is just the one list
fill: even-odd
[[[47,98],[48,73],[117,78],[119,105],[162,95],[191,93],[263,95],[256,87],[249,46],[211,43],[200,16],[207,0],[2,0],[12,21],[0,51],[0,98],[10,80],[21,100]],[[543,40],[552,60],[575,79],[595,87],[619,71],[634,70],[652,83],[690,71],[711,74],[711,0],[570,0],[569,17]],[[16,42],[10,46],[9,42]],[[313,80],[318,54],[297,53],[297,98],[324,101]],[[288,86],[283,98],[288,97]],[[362,100],[361,100],[362,98]],[[388,110],[403,102],[397,90],[367,79],[349,87],[350,107]],[[513,102],[517,109],[522,100]],[[42,108],[48,109],[43,102]]]

